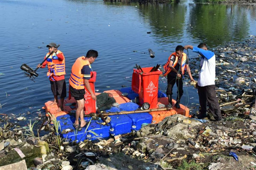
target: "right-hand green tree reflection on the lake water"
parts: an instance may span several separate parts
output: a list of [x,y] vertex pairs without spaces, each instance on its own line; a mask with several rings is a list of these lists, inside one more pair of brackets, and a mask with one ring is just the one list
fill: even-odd
[[209,46],[241,40],[248,35],[247,12],[237,5],[190,5],[188,30]]

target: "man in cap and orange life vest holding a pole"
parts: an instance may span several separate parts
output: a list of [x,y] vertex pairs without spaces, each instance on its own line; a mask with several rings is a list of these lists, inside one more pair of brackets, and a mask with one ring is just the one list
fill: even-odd
[[66,82],[65,82],[65,57],[63,53],[57,50],[57,45],[54,42],[49,43],[49,52],[44,58],[46,58],[52,51],[54,52],[42,65],[38,64],[38,68],[45,68],[48,66],[47,76],[50,80],[52,94],[54,96],[54,101],[50,105],[58,105],[58,95],[61,98],[61,104],[59,105],[61,110],[63,110],[63,101],[66,97]]

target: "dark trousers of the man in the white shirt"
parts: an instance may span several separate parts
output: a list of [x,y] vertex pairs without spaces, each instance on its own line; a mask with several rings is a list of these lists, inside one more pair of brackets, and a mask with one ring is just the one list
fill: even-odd
[[199,96],[199,103],[201,106],[200,114],[198,118],[206,117],[207,112],[207,102],[209,106],[209,111],[212,113],[213,117],[216,120],[221,119],[221,109],[218,103],[218,98],[216,97],[215,85],[207,85],[204,87],[198,86],[198,96]]

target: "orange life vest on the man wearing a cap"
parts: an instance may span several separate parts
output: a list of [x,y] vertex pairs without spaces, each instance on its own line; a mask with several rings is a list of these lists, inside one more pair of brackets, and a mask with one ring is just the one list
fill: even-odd
[[[58,53],[62,53],[58,50]],[[46,56],[48,56],[50,53],[47,53]],[[63,53],[62,53],[63,54]],[[63,55],[64,56],[64,55]],[[58,59],[55,53],[53,53],[48,59],[47,59],[47,66],[48,66],[48,72],[47,76],[51,77],[53,74],[55,76],[61,76],[65,75],[65,57],[62,61]]]

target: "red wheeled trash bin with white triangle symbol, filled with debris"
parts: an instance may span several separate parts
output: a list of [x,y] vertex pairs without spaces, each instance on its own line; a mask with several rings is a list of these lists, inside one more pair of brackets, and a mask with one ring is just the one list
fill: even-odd
[[162,71],[151,71],[153,67],[142,68],[143,72],[134,69],[131,89],[139,94],[143,109],[157,108],[158,79]]

